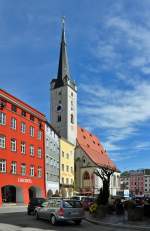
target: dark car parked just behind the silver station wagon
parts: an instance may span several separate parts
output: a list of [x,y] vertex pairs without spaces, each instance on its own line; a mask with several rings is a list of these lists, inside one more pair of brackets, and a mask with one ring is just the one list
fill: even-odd
[[45,202],[46,199],[45,198],[42,198],[42,197],[35,197],[35,198],[32,198],[28,204],[28,208],[27,208],[27,214],[28,215],[31,215],[31,214],[34,214],[34,210],[36,207],[41,207],[41,204],[43,202]]

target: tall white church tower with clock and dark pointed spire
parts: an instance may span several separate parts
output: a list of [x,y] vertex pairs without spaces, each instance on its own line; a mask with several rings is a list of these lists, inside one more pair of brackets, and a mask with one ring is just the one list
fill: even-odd
[[70,143],[77,137],[77,87],[71,79],[65,38],[64,19],[57,78],[51,81],[51,124]]

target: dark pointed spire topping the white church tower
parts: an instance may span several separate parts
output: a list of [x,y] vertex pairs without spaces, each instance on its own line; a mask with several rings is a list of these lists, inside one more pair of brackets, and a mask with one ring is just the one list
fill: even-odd
[[70,71],[69,71],[67,48],[66,48],[66,38],[65,38],[65,18],[63,17],[59,66],[58,66],[58,74],[57,74],[57,79],[59,80],[59,83],[63,83],[64,77],[70,79]]

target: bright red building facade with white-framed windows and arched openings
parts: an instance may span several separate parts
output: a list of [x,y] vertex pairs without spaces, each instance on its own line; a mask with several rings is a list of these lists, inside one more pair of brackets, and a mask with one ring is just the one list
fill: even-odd
[[45,196],[45,121],[0,89],[0,205]]

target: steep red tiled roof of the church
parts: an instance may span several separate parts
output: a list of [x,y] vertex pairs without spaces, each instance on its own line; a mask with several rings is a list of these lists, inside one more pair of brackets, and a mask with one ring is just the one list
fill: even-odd
[[77,142],[89,158],[98,166],[116,170],[116,166],[100,144],[99,139],[84,128],[77,129]]

